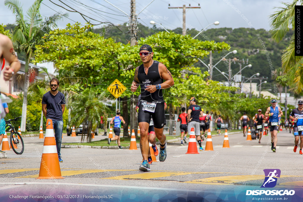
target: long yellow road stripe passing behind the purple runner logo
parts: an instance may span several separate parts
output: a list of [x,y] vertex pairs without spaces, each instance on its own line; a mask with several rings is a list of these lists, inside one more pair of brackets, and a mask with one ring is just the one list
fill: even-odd
[[[281,175],[280,177],[302,177],[302,176],[292,176],[292,175]],[[222,176],[222,177],[208,177],[198,180],[190,180],[185,183],[194,184],[212,184],[212,185],[231,185],[237,182],[244,182],[250,180],[262,180],[264,175],[235,175],[235,176]]]

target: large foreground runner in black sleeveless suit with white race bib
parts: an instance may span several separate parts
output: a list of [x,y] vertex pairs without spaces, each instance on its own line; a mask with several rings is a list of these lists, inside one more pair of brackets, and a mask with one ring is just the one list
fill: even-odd
[[[141,100],[139,104],[138,123],[140,128],[140,150],[143,157],[140,171],[150,171],[148,164],[148,127],[153,118],[155,134],[160,142],[159,161],[166,159],[166,136],[163,134],[165,124],[164,99],[162,89],[174,85],[171,73],[162,63],[153,60],[152,48],[145,44],[139,50],[142,65],[135,69],[131,91],[135,92],[140,85]],[[163,82],[163,80],[165,80]]]

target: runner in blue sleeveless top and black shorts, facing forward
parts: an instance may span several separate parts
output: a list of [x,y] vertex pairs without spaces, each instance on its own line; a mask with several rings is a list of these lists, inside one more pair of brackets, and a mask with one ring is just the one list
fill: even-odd
[[279,117],[283,115],[283,111],[280,107],[276,107],[277,100],[271,100],[271,107],[268,107],[265,112],[265,117],[269,117],[269,127],[271,134],[271,150],[276,152],[276,146],[278,142],[277,134],[278,134],[278,121]]

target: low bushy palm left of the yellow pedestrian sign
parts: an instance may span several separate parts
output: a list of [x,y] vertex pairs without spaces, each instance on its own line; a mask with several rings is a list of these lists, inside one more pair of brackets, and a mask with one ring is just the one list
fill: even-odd
[[[106,92],[103,91],[95,96],[98,92],[93,89],[85,89],[81,94],[75,96],[72,102],[71,117],[73,125],[87,124],[87,142],[92,141],[91,131],[95,131],[100,123],[100,117],[107,117],[108,107],[102,103],[106,99]],[[106,120],[106,119],[105,119]],[[85,131],[83,125],[82,134]],[[81,138],[81,141],[83,136]]]

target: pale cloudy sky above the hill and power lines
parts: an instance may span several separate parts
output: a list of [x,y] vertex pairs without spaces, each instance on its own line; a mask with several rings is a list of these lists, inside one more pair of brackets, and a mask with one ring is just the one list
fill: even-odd
[[[41,5],[41,15],[50,16],[55,12],[64,13],[63,8],[53,4],[64,5],[74,8],[87,15],[90,18],[101,22],[112,22],[114,24],[122,24],[128,22],[130,14],[130,0],[43,0]],[[137,1],[136,13],[148,5],[147,1]],[[284,0],[289,2],[290,0]],[[23,5],[23,12],[34,2],[34,0],[20,0]],[[110,2],[110,3],[108,3]],[[182,27],[182,9],[168,9],[171,7],[182,7],[182,5],[198,6],[201,8],[186,9],[186,27],[201,30],[207,25],[219,21],[220,24],[211,25],[208,28],[264,28],[270,29],[269,15],[273,14],[275,7],[282,6],[279,0],[154,0],[147,8],[138,14],[138,22],[145,26],[152,27],[149,23],[151,20],[161,23],[167,29],[175,29]],[[0,0],[0,23],[8,24],[15,22],[15,16],[12,11],[4,5],[4,0]],[[68,5],[68,6],[67,6]],[[115,6],[117,8],[115,8]],[[121,9],[121,10],[119,10]],[[68,18],[58,23],[59,28],[65,28],[67,23],[76,21],[85,24],[85,20],[78,14],[68,12]],[[247,22],[246,22],[247,21]],[[91,22],[98,24],[97,21]],[[103,24],[104,25],[104,24]],[[102,27],[98,25],[97,27]],[[156,25],[157,27],[160,25]]]

